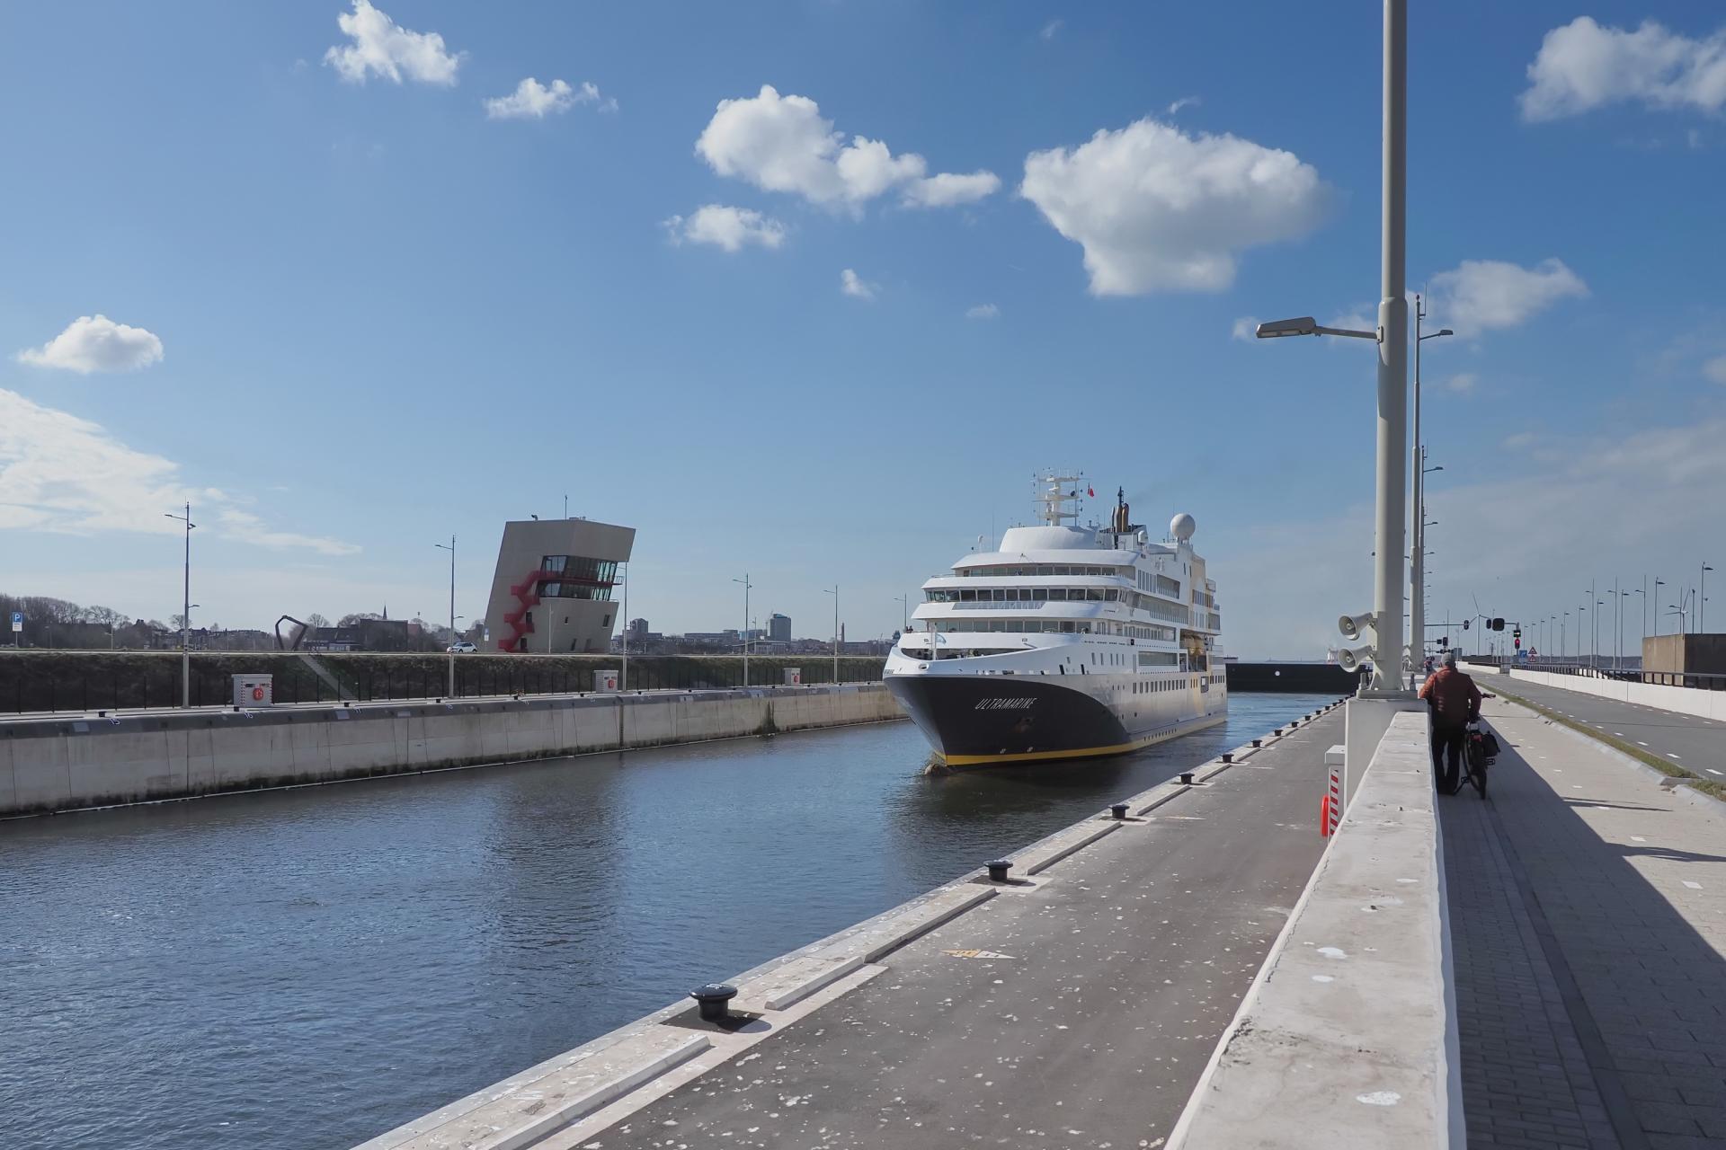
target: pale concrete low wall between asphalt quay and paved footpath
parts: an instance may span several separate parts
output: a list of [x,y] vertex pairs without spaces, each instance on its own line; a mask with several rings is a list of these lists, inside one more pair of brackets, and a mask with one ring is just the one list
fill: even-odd
[[1453,986],[1426,716],[1400,712],[1169,1150],[1462,1145]]

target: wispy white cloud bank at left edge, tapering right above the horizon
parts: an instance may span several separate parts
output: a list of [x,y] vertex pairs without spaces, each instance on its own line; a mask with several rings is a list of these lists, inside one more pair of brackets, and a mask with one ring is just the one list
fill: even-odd
[[[359,550],[340,540],[271,531],[235,507],[235,497],[185,484],[173,460],[135,452],[100,424],[0,390],[0,529],[173,534],[178,528],[166,512],[186,502],[200,533],[323,555]],[[198,507],[212,507],[211,517],[197,514]]]

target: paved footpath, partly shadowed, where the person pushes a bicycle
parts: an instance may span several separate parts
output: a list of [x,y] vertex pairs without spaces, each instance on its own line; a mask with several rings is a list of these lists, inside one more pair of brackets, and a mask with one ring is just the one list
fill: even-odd
[[1726,1150],[1726,807],[1486,719],[1491,798],[1439,805],[1469,1145]]

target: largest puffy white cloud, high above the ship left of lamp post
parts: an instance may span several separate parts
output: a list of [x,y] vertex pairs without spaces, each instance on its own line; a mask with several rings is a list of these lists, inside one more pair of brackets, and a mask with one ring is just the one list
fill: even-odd
[[1093,295],[1222,291],[1236,255],[1319,226],[1331,188],[1293,152],[1153,119],[1025,157],[1020,195],[1084,247]]

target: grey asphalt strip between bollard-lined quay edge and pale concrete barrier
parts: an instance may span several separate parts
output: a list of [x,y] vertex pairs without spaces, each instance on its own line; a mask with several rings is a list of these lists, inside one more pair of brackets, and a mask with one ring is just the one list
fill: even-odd
[[1341,736],[1298,729],[583,1145],[1162,1145],[1319,860]]

